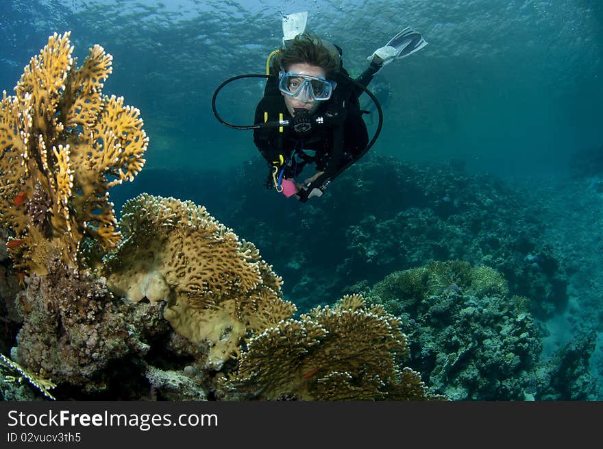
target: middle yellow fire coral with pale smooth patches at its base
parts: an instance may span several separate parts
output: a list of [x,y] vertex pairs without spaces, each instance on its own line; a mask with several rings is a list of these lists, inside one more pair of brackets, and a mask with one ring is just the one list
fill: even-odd
[[176,332],[210,347],[208,367],[236,356],[248,331],[295,313],[256,247],[202,206],[138,195],[124,204],[120,229],[123,241],[104,265],[112,290],[134,302],[167,300]]

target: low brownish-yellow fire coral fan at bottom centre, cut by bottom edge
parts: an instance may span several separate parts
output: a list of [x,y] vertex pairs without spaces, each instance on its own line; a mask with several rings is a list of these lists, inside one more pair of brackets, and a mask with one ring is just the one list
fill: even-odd
[[232,385],[258,389],[269,400],[429,399],[408,356],[399,319],[346,295],[251,338]]

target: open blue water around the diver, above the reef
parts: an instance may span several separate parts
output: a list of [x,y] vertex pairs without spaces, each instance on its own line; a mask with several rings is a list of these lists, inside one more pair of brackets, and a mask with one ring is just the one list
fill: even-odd
[[[408,162],[462,160],[471,174],[538,181],[551,199],[541,209],[550,213],[540,217],[550,220],[543,233],[558,245],[567,243],[557,248],[559,257],[579,265],[567,309],[546,323],[545,352],[569,341],[586,314],[593,319],[590,328],[603,330],[596,311],[603,306],[602,248],[595,235],[603,196],[590,189],[592,180],[571,184],[575,191],[563,184],[576,154],[603,144],[602,1],[0,1],[0,88],[12,93],[23,66],[54,32],[71,30],[80,62],[88,47],[103,46],[114,58],[103,92],[123,95],[140,109],[150,138],[146,169],[207,177],[188,187],[180,182],[177,191],[173,178],[147,177],[145,189],[208,203],[220,219],[243,207],[220,201],[220,173],[256,159],[257,150],[250,131],[218,123],[210,100],[227,77],[264,72],[267,55],[280,45],[282,16],[307,10],[308,30],[343,47],[351,75],[365,69],[373,50],[412,26],[429,44],[386,66],[371,84],[389,93],[382,134],[371,151]],[[257,79],[229,86],[218,102],[223,117],[250,124],[262,88]],[[265,173],[244,173],[232,182],[249,185],[245,198],[260,204],[267,195],[258,186]],[[116,189],[116,204],[137,185]],[[272,197],[267,201],[279,207]],[[288,215],[297,210],[283,207]],[[279,225],[278,214],[247,218],[265,219],[269,229]],[[237,229],[238,223],[226,224]],[[274,258],[281,264],[277,272],[296,263],[295,256]],[[286,292],[295,291],[285,283]],[[600,354],[599,345],[591,361],[595,375],[603,366]]]

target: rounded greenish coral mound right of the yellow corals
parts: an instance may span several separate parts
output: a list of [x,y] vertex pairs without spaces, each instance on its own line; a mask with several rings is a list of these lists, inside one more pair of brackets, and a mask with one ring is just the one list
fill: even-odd
[[367,295],[401,317],[408,366],[452,400],[524,400],[542,350],[526,298],[495,270],[431,262],[386,276]]

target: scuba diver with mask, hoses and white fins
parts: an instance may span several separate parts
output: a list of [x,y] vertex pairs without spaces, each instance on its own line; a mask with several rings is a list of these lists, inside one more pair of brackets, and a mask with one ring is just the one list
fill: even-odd
[[[353,80],[343,67],[342,50],[304,31],[307,12],[284,16],[283,47],[267,61],[264,97],[256,107],[253,126],[236,126],[219,117],[214,93],[212,107],[221,123],[253,129],[254,143],[267,160],[267,187],[301,202],[320,197],[327,186],[359,160],[376,141],[382,125],[379,102],[367,86],[383,66],[427,45],[422,36],[406,28],[376,49],[367,69]],[[239,77],[260,75],[239,75]],[[371,141],[360,109],[359,97],[367,93],[380,115]],[[316,172],[299,182],[307,165]]]

